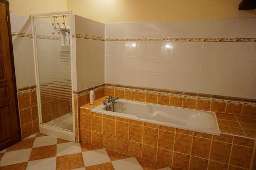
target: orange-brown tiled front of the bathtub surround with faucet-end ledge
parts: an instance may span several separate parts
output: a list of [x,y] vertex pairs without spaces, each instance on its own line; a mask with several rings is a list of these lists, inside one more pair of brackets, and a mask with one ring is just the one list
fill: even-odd
[[171,166],[173,169],[249,169],[254,139],[209,135],[91,112],[80,108],[82,142]]

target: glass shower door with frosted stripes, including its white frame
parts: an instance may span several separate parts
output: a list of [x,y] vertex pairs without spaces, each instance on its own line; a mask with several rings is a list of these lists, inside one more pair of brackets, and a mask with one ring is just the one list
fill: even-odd
[[70,12],[32,15],[40,132],[75,140]]

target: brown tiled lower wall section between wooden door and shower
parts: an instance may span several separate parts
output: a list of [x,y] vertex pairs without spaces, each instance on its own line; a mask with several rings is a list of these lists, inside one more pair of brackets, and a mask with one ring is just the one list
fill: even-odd
[[22,139],[39,132],[36,91],[18,94]]

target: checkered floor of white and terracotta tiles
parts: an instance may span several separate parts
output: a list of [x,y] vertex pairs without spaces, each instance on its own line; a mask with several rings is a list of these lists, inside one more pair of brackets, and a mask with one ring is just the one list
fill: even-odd
[[135,157],[37,133],[0,152],[0,169],[162,169]]

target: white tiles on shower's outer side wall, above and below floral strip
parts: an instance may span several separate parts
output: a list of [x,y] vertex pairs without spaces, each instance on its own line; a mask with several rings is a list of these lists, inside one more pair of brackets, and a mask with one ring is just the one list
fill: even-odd
[[[75,33],[104,37],[104,23],[75,15]],[[75,38],[77,90],[104,83],[104,41]]]

